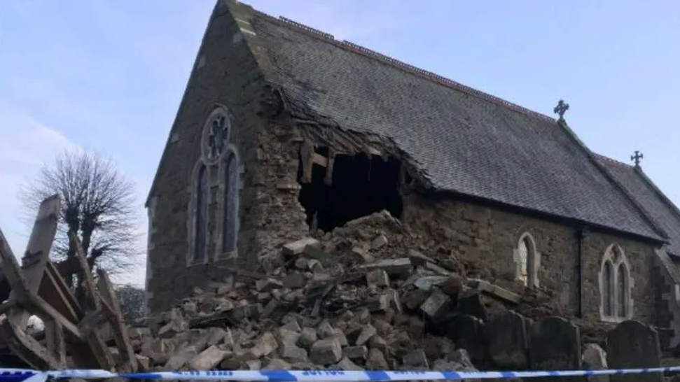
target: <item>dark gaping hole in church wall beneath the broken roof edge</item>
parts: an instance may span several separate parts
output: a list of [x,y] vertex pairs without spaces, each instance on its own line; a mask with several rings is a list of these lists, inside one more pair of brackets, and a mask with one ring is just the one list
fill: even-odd
[[[317,153],[328,155],[327,148],[317,148]],[[359,154],[335,155],[333,181],[326,185],[326,167],[314,164],[312,182],[302,183],[302,161],[298,167],[298,182],[302,185],[298,201],[307,213],[307,225],[316,214],[317,228],[330,232],[346,222],[387,210],[401,218],[403,201],[399,194],[401,162],[394,158]]]

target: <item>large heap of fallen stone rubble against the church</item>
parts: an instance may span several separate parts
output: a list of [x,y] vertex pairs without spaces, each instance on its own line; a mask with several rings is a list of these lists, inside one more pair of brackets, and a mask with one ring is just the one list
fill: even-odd
[[410,235],[383,212],[289,243],[263,273],[237,270],[134,328],[137,358],[163,370],[475,370],[470,328],[522,297],[405,250]]

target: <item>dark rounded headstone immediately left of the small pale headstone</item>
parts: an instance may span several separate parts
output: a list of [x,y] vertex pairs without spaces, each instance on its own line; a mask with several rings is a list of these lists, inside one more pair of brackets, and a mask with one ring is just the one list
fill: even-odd
[[[561,317],[537,321],[529,330],[529,366],[534,370],[581,369],[581,334],[576,325]],[[583,381],[563,377],[565,381]],[[554,377],[536,380],[554,381]]]

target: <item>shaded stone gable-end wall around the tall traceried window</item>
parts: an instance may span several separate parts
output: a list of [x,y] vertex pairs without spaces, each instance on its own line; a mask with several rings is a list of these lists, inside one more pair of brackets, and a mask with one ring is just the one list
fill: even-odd
[[[221,188],[219,166],[211,166],[207,263],[190,267],[186,263],[193,171],[201,155],[204,123],[218,105],[230,113],[229,143],[240,157],[241,215],[251,215],[259,203],[254,174],[258,164],[257,134],[262,126],[258,115],[261,115],[265,84],[256,69],[256,57],[244,41],[247,33],[242,29],[247,27],[237,24],[225,4],[217,2],[170,132],[148,202],[148,208],[155,210],[149,213],[153,216],[149,225],[147,272],[147,307],[151,311],[172,306],[194,286],[223,279],[228,274],[223,267],[234,267],[238,264],[236,260],[243,260],[242,257],[215,259]],[[240,220],[239,253],[256,252],[256,229],[253,220]]]

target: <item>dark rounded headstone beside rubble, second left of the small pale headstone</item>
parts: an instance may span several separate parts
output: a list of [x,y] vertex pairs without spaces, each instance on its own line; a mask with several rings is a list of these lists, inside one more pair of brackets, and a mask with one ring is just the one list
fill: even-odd
[[526,369],[529,366],[527,329],[531,320],[514,311],[493,316],[484,327],[487,351],[494,365],[503,369]]

